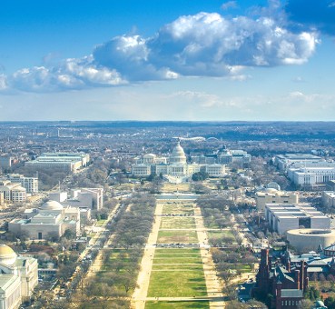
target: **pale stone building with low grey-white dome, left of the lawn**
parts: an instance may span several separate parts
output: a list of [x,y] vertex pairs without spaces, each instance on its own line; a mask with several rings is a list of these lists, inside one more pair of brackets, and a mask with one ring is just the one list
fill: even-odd
[[8,223],[10,232],[25,234],[30,239],[61,237],[67,229],[80,234],[80,210],[64,207],[56,201],[48,201],[39,209],[27,209],[25,219],[14,219]]

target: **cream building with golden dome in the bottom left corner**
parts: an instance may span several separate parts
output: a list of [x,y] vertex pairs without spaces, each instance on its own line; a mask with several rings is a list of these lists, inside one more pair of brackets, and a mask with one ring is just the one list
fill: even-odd
[[38,265],[33,257],[17,256],[0,244],[0,309],[19,308],[38,284]]

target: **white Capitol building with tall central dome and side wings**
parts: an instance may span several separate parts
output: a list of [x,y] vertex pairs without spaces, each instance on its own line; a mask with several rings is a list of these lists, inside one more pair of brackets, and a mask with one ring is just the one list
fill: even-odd
[[132,166],[132,173],[135,176],[163,174],[172,183],[188,181],[192,174],[201,171],[213,177],[220,177],[225,174],[225,165],[188,164],[180,141],[177,142],[168,158],[159,157],[156,154],[144,154],[141,158],[137,158],[136,164]]

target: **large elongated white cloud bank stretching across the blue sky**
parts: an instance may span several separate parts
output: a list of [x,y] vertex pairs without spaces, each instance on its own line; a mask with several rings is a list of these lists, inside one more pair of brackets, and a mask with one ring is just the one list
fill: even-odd
[[163,25],[153,37],[116,36],[97,45],[92,55],[25,68],[6,81],[0,77],[0,87],[48,92],[180,76],[228,76],[241,81],[248,78],[242,74],[245,67],[301,65],[317,44],[316,33],[291,33],[268,16],[254,20],[202,12]]

